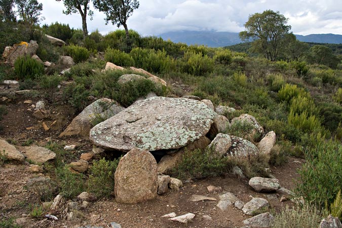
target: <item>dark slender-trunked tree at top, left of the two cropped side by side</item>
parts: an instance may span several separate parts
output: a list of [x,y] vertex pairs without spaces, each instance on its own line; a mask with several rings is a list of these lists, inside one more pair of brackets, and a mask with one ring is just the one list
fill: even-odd
[[[60,2],[62,0],[56,1]],[[63,14],[69,15],[77,12],[81,14],[83,39],[86,39],[88,36],[87,15],[90,17],[90,20],[93,19],[94,15],[94,12],[89,9],[90,1],[91,0],[63,0],[63,4],[66,7],[66,10],[63,10]]]

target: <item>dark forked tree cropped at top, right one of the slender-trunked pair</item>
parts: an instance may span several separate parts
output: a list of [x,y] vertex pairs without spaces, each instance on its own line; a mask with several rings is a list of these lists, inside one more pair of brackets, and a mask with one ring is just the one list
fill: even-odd
[[126,37],[129,39],[127,19],[139,8],[137,0],[94,0],[94,7],[106,14],[106,24],[111,21],[118,27],[124,26]]

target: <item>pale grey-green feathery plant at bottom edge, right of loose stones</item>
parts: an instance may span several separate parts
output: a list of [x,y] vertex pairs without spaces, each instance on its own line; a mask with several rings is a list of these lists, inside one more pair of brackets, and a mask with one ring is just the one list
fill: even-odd
[[317,227],[322,217],[313,206],[304,205],[289,209],[286,206],[275,215],[272,228],[312,228]]

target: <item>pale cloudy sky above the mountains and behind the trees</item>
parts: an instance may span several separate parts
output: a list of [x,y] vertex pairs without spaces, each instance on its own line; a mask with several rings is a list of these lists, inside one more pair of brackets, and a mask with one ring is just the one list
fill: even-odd
[[[81,28],[79,14],[64,15],[62,2],[38,0],[43,3],[42,23],[58,21]],[[168,31],[214,30],[240,32],[248,15],[264,10],[279,11],[289,18],[295,34],[342,34],[342,4],[339,0],[140,0],[139,9],[128,20],[128,27],[142,35],[158,35]],[[87,20],[89,32],[116,30],[105,25],[104,14],[94,10]]]

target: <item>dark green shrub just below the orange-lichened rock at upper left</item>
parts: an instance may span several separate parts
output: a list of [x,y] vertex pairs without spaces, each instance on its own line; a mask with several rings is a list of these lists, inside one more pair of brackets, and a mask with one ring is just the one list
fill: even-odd
[[35,79],[44,73],[44,66],[30,56],[22,56],[15,61],[14,72],[20,80]]

